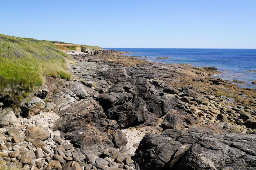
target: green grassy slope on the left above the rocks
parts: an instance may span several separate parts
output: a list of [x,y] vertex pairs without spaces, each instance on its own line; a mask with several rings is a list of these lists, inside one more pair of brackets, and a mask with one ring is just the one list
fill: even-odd
[[0,100],[18,103],[42,85],[43,76],[70,79],[67,59],[53,41],[0,34]]

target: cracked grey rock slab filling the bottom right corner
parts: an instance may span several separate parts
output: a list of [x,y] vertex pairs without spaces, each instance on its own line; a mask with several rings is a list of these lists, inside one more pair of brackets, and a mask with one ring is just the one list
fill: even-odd
[[228,133],[202,136],[177,163],[176,169],[252,169],[256,163],[254,135]]

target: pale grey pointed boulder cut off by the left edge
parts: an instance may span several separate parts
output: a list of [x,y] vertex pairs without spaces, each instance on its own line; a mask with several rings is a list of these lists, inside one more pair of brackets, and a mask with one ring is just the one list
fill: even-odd
[[18,123],[18,119],[15,116],[13,109],[4,108],[0,111],[0,127],[12,126]]

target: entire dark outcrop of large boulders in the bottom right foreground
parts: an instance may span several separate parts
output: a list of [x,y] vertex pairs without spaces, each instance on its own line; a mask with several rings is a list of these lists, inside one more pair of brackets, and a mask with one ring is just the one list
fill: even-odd
[[135,161],[143,170],[252,169],[256,137],[230,133],[216,126],[167,129],[148,134],[136,150]]

